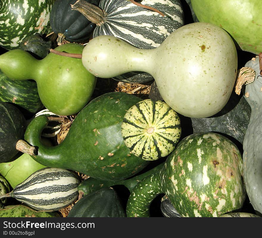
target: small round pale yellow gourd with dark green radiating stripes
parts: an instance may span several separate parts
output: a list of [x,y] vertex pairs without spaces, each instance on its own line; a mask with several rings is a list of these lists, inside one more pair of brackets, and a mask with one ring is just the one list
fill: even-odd
[[127,110],[121,133],[132,154],[156,160],[170,154],[177,145],[180,118],[165,102],[145,99]]

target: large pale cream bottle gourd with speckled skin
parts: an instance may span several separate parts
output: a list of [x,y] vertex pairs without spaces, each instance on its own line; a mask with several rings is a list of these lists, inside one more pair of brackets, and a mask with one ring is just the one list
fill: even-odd
[[237,51],[219,26],[192,23],[154,49],[139,49],[113,36],[98,36],[82,52],[93,75],[111,78],[130,71],[150,73],[164,101],[191,118],[209,117],[229,100],[237,74]]

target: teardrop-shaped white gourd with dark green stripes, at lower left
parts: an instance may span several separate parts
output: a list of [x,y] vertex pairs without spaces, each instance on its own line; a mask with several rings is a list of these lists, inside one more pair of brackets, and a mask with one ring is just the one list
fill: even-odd
[[0,198],[15,198],[38,211],[58,211],[78,198],[78,185],[78,177],[70,170],[46,167]]

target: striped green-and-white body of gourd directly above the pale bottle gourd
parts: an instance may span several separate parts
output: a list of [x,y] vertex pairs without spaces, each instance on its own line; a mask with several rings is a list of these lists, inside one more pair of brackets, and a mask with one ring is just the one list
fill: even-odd
[[95,28],[93,37],[114,35],[138,48],[156,48],[169,34],[183,25],[182,8],[173,2],[142,1],[142,4],[155,7],[170,16],[163,17],[129,1],[102,0],[99,7],[108,13],[107,21]]

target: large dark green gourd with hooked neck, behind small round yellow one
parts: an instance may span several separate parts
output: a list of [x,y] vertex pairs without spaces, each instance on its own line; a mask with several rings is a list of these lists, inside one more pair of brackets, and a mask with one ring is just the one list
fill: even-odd
[[40,141],[48,123],[45,115],[34,118],[24,139],[38,148],[35,161],[48,167],[70,169],[95,179],[118,181],[141,171],[149,164],[130,153],[121,135],[121,122],[127,109],[140,98],[120,92],[105,93],[83,108],[75,117],[66,138],[54,147]]

